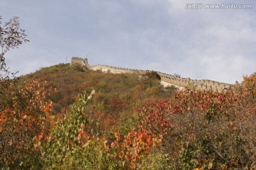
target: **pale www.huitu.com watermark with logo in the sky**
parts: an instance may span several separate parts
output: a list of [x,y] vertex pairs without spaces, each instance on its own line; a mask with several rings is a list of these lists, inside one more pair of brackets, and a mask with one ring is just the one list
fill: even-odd
[[252,4],[203,4],[203,3],[188,3],[187,9],[250,9]]

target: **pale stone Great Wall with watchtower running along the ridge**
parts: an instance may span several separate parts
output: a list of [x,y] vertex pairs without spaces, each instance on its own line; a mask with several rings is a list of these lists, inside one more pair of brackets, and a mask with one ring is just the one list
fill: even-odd
[[[107,65],[94,65],[90,66],[87,59],[82,59],[80,57],[73,57],[71,64],[81,64],[89,69],[94,71],[100,70],[101,72],[111,72],[113,74],[123,74],[123,73],[135,73],[135,74],[144,74],[146,72],[151,72],[151,70],[142,70],[142,69],[124,69],[120,67],[112,67]],[[176,86],[179,89],[183,89],[186,86],[194,86],[198,90],[213,90],[213,91],[223,91],[224,89],[229,89],[232,84],[220,83],[218,81],[212,81],[208,79],[190,79],[179,77],[178,75],[171,75],[162,72],[157,72],[161,77],[161,84],[164,86]]]

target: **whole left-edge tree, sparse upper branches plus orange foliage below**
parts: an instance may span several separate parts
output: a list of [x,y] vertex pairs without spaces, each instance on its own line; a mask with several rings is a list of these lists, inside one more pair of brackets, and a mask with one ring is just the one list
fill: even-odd
[[4,24],[1,19],[0,16],[0,166],[28,169],[39,154],[33,140],[48,130],[51,108],[48,95],[53,89],[38,80],[18,86],[18,79],[9,77],[6,52],[29,40],[20,28],[18,17]]

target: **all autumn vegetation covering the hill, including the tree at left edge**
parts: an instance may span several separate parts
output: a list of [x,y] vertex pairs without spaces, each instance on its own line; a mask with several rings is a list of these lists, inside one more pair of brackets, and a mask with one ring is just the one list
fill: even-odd
[[10,78],[17,24],[0,22],[1,169],[256,169],[256,73],[222,92],[69,64]]

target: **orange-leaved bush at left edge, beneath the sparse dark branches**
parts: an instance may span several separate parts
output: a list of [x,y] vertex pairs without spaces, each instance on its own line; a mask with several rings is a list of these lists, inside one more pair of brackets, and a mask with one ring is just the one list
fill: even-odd
[[0,159],[16,166],[23,157],[36,152],[33,140],[40,141],[48,132],[53,118],[50,115],[52,102],[47,97],[54,90],[38,80],[23,86],[10,83],[5,90],[11,100],[0,111]]

